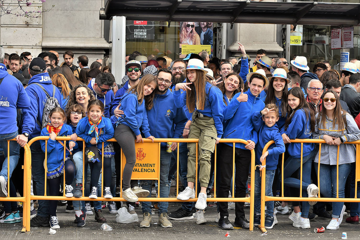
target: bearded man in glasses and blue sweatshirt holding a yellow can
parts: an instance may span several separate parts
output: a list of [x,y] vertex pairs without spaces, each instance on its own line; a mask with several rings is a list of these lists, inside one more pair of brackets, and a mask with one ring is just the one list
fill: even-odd
[[[158,87],[154,90],[155,97],[153,100],[154,106],[147,110],[149,120],[150,134],[156,138],[180,138],[183,134],[185,122],[188,120],[183,108],[177,108],[174,103],[171,86],[171,71],[167,68],[162,68],[157,74]],[[173,142],[171,150],[175,150],[177,143]],[[168,176],[170,170],[171,153],[166,151],[166,142],[161,143],[160,151],[160,198],[168,198],[170,193],[170,184],[168,183]],[[151,192],[152,180],[142,180],[141,186],[145,190]],[[151,197],[151,194],[149,196]],[[158,203],[158,224],[162,227],[172,227],[171,222],[167,219],[168,202]],[[140,227],[149,227],[151,223],[151,202],[142,202],[141,209],[143,210],[144,218],[140,223]]]

